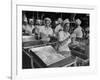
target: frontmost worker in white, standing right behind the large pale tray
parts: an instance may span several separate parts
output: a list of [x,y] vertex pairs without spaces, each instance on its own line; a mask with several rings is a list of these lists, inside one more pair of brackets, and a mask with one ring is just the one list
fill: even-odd
[[63,30],[59,32],[58,40],[59,44],[59,52],[66,57],[71,56],[70,49],[68,47],[69,43],[71,43],[70,33],[69,31],[70,21],[69,19],[65,19],[63,23]]

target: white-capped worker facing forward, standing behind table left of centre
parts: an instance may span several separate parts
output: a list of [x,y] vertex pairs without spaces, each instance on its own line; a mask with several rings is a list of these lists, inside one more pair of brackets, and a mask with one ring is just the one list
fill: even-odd
[[51,28],[51,19],[45,18],[44,19],[44,26],[40,30],[40,35],[42,40],[49,41],[50,36],[53,36],[53,30]]

